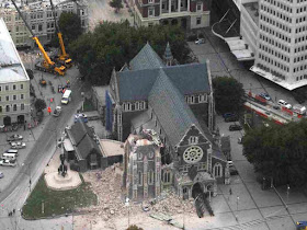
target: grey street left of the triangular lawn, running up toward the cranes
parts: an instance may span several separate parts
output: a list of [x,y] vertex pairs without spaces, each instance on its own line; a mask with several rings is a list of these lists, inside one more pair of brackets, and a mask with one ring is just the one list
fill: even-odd
[[[29,60],[29,59],[27,59]],[[25,59],[24,65],[31,68],[31,62]],[[55,93],[50,90],[50,84],[46,87],[39,85],[39,79],[43,78],[48,82],[50,81],[53,85],[57,89],[58,84],[66,84],[66,81],[69,80],[72,90],[72,101],[62,106],[62,112],[59,117],[54,117],[48,115],[45,111],[45,117],[43,123],[37,127],[32,129],[24,130],[23,128],[16,131],[24,136],[24,141],[26,142],[26,149],[21,150],[21,154],[18,159],[18,166],[14,169],[3,169],[1,166],[1,171],[4,172],[4,179],[1,180],[1,193],[0,193],[0,225],[1,229],[19,229],[16,226],[23,227],[25,229],[26,226],[32,226],[32,221],[25,221],[20,218],[20,209],[23,206],[27,195],[30,194],[30,189],[35,186],[35,183],[42,175],[42,172],[56,148],[56,140],[59,137],[60,133],[67,126],[69,122],[72,120],[73,114],[77,108],[81,106],[82,96],[81,92],[86,91],[82,87],[83,83],[79,80],[79,71],[76,67],[69,69],[65,77],[55,77],[50,73],[39,72],[34,70],[35,78],[31,80],[32,85],[35,89],[35,94],[37,97],[44,99],[47,103],[47,106],[50,106],[52,110],[55,108],[56,105],[60,105],[61,93]],[[50,102],[50,97],[54,99]],[[12,133],[1,133],[0,134],[0,142],[1,150],[8,149],[7,143],[7,135],[11,135]],[[31,188],[30,188],[31,186]],[[8,212],[16,210],[14,217],[8,217]],[[66,218],[67,220],[67,218]],[[23,223],[20,223],[22,221]],[[52,221],[55,229],[59,223],[59,220]],[[41,226],[41,221],[38,221]],[[36,226],[36,225],[34,225]],[[39,229],[35,227],[34,229]],[[45,228],[42,226],[42,229],[53,229]]]

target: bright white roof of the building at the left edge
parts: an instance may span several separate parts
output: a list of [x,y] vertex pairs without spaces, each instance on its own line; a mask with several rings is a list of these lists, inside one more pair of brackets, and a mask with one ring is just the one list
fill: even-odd
[[0,19],[0,83],[30,80],[3,19]]

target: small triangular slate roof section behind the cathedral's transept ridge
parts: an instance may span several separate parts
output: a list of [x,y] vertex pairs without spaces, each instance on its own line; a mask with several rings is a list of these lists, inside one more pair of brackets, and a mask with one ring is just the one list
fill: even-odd
[[132,70],[156,69],[159,67],[164,67],[164,64],[157,53],[151,48],[149,43],[147,43],[134,57],[134,59],[130,60],[129,67]]

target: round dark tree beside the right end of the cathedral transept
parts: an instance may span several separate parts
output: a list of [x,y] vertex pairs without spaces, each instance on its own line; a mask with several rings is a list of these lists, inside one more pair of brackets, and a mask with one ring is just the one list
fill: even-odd
[[240,114],[243,111],[243,85],[234,78],[217,77],[213,79],[215,108],[217,113]]

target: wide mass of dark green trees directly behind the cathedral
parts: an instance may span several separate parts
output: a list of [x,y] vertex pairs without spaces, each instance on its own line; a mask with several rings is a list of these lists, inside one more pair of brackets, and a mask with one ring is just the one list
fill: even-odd
[[86,80],[93,84],[107,84],[113,68],[118,71],[147,42],[160,57],[169,42],[172,55],[180,64],[189,59],[190,49],[180,27],[155,25],[136,28],[127,21],[101,23],[93,32],[69,44],[69,49]]

